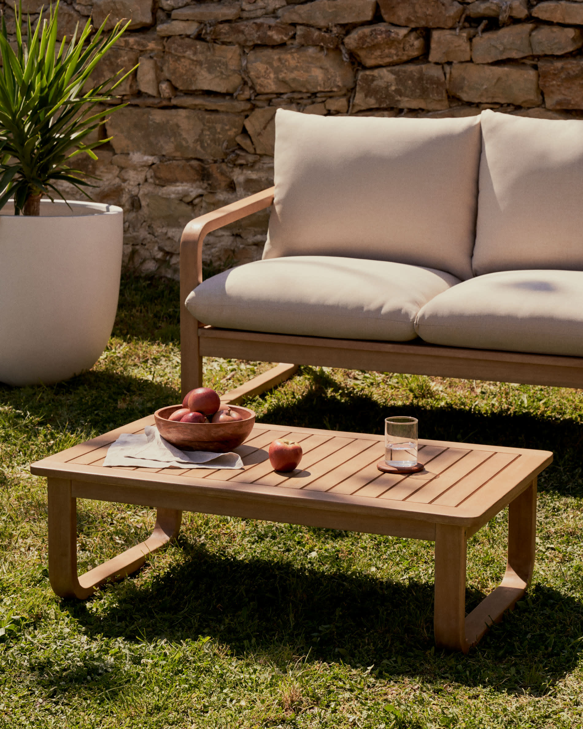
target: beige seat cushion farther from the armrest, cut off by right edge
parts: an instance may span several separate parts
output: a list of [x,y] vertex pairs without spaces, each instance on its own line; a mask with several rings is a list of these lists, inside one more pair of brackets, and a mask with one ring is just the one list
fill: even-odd
[[431,299],[415,330],[433,344],[583,356],[583,273],[488,273]]

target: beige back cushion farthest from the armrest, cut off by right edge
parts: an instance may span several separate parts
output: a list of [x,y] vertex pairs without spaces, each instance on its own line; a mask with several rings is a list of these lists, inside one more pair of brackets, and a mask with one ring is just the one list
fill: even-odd
[[583,270],[583,121],[481,116],[474,273]]

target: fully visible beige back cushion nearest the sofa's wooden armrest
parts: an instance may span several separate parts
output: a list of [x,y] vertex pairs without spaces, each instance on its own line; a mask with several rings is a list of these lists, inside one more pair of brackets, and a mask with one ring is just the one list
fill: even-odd
[[480,117],[275,114],[264,258],[330,255],[472,277]]

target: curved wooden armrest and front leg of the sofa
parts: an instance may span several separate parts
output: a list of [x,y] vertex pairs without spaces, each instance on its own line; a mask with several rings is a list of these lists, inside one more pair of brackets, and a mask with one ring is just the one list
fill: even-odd
[[203,282],[203,243],[206,235],[247,217],[273,203],[275,188],[237,200],[218,210],[192,219],[182,232],[180,241],[180,346],[181,391],[186,394],[193,387],[203,384],[203,358],[198,346],[199,322],[187,311],[184,302],[198,284]]

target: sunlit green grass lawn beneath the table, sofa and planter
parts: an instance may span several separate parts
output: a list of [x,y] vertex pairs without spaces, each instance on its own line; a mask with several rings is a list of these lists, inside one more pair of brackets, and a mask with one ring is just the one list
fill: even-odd
[[[0,386],[0,727],[583,725],[583,391],[302,367],[249,401],[266,423],[555,452],[533,584],[469,655],[434,650],[433,545],[185,514],[176,545],[85,602],[47,574],[28,464],[179,400],[178,290],[122,284],[109,347],[53,387]],[[226,391],[268,365],[211,359]],[[152,510],[79,501],[79,568],[146,538]],[[504,573],[506,512],[469,544],[467,607]]]

